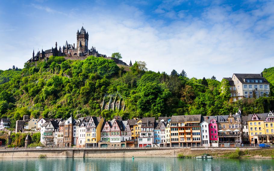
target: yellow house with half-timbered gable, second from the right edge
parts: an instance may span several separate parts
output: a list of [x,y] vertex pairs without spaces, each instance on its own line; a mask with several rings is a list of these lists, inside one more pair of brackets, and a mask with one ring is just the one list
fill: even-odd
[[254,113],[248,115],[248,132],[251,144],[258,144],[258,135],[262,136],[266,134],[264,121],[267,115],[268,113]]

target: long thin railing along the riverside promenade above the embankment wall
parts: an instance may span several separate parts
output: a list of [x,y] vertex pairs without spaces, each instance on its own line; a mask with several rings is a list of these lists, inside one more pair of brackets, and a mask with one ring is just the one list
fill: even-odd
[[[121,149],[179,149],[179,148],[198,148],[198,149],[207,149],[207,148],[215,148],[215,149],[222,149],[222,148],[232,148],[232,149],[235,149],[235,148],[260,148],[259,146],[257,145],[240,145],[240,146],[235,146],[235,147],[221,147],[221,146],[218,146],[218,147],[201,147],[201,146],[182,146],[182,147],[179,147],[179,146],[172,146],[172,147],[115,147],[115,148],[112,148],[112,147],[84,147],[84,148],[75,148],[75,147],[42,147],[41,149],[36,149],[35,147],[31,147],[31,148],[3,148],[1,147],[0,148],[0,152],[1,151],[36,151],[36,150],[121,150]],[[274,145],[270,145],[270,148],[274,148]],[[265,148],[264,148],[265,149]]]

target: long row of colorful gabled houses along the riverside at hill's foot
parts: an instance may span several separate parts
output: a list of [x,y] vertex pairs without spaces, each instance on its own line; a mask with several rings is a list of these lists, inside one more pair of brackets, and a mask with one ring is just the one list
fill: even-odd
[[71,116],[66,120],[30,121],[41,132],[41,143],[55,147],[233,147],[274,143],[271,111],[241,116],[239,110],[229,115],[181,115],[157,120],[154,117],[123,120],[120,116],[108,121],[100,116],[75,120]]

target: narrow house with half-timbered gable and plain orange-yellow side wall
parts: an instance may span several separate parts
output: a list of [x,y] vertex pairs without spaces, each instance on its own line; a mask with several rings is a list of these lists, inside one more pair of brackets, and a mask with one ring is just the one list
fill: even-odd
[[101,128],[104,123],[104,118],[90,117],[86,126],[86,147],[97,147],[101,140]]

